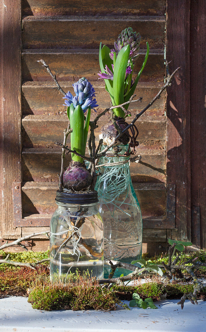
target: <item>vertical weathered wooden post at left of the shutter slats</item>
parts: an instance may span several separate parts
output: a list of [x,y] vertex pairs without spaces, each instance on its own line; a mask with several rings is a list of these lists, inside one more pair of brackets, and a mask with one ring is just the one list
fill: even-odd
[[[12,187],[21,182],[21,0],[1,0],[1,223],[3,238],[17,238]],[[16,211],[20,213],[20,211]]]

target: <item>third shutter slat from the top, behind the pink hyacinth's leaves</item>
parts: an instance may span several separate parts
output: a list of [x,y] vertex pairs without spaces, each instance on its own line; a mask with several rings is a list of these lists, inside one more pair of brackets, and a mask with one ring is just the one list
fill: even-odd
[[[144,61],[146,50],[140,51],[140,56],[136,60],[134,67],[134,77],[137,76],[142,62]],[[43,58],[58,80],[77,81],[85,76],[92,81],[98,81],[100,71],[99,53],[97,50],[72,49],[63,50],[23,50],[22,52],[22,79],[23,81],[52,81],[52,78],[45,71],[37,60]],[[162,82],[164,77],[164,54],[149,53],[147,63],[141,75],[141,81]]]

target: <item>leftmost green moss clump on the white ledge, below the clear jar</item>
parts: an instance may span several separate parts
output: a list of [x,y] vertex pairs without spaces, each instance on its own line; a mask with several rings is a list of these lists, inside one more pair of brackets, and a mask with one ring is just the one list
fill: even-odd
[[72,295],[63,289],[44,288],[33,290],[28,297],[28,302],[32,303],[32,308],[39,310],[59,310],[70,309]]

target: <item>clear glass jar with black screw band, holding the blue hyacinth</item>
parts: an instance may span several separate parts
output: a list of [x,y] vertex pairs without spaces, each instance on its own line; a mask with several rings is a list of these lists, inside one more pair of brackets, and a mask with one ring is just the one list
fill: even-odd
[[65,283],[82,274],[103,278],[104,225],[97,192],[66,194],[57,191],[58,208],[50,221],[50,279]]

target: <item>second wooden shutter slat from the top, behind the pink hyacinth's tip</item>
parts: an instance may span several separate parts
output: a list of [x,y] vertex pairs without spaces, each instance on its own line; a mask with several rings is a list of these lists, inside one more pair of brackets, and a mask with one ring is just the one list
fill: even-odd
[[[35,17],[22,20],[23,48],[99,48],[100,41],[113,47],[114,40],[125,27],[132,26],[151,48],[164,49],[165,18],[140,16],[121,17]],[[44,33],[42,33],[42,31]]]

